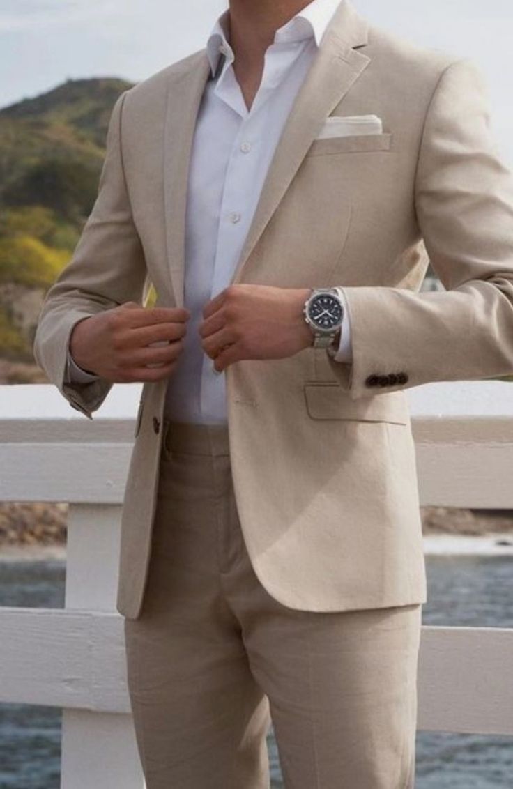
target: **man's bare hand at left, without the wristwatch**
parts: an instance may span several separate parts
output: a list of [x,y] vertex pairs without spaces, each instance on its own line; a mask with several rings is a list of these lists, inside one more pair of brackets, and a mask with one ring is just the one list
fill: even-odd
[[82,369],[112,383],[163,380],[182,353],[189,317],[180,307],[126,301],[75,323],[69,350]]

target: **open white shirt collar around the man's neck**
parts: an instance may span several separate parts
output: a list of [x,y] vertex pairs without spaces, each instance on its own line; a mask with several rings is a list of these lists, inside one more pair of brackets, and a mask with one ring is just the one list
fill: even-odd
[[[316,46],[319,47],[324,32],[326,32],[331,17],[340,2],[341,0],[313,0],[281,28],[278,28],[275,32],[274,43],[290,43],[313,38]],[[218,17],[208,37],[207,55],[212,76],[215,76],[222,54],[229,55],[232,60],[234,59],[234,53],[228,40],[229,13],[227,9]]]

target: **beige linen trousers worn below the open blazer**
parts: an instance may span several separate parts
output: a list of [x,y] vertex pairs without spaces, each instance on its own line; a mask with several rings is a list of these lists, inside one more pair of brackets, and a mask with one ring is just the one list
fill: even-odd
[[148,585],[125,619],[147,789],[269,787],[271,720],[286,789],[414,787],[421,605],[280,604],[245,550],[227,428],[163,428]]

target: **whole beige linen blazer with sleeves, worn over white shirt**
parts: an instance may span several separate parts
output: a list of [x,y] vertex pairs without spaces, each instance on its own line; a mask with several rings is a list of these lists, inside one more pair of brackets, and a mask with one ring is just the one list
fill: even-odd
[[[125,91],[81,240],[48,291],[34,352],[89,418],[111,383],[65,383],[74,323],[124,301],[183,303],[200,50]],[[329,115],[383,133],[316,140]],[[428,261],[447,292],[419,293]],[[416,47],[340,3],[295,100],[234,282],[340,285],[354,361],[309,348],[227,369],[234,488],[254,569],[290,608],[425,601],[405,389],[513,372],[513,179],[473,62]],[[118,611],[147,580],[166,381],[145,383],[122,514]]]

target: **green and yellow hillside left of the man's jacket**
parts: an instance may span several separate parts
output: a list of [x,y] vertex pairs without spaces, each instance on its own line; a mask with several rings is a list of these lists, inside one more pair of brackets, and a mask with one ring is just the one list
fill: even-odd
[[98,189],[115,78],[67,80],[0,110],[0,357],[32,359],[2,286],[46,290],[77,245]]

